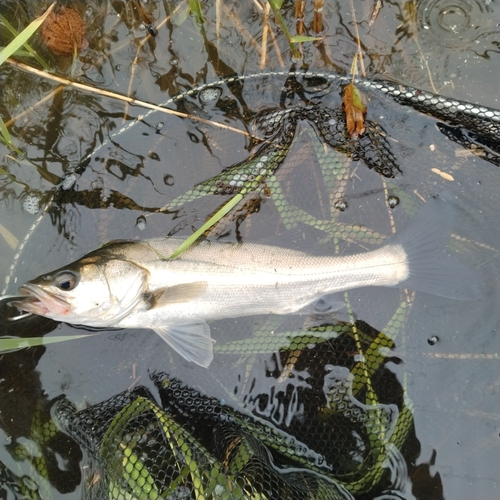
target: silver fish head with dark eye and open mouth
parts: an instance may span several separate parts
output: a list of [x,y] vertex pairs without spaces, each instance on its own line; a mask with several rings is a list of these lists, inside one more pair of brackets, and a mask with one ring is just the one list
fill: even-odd
[[147,291],[149,273],[120,258],[94,255],[28,281],[17,308],[65,323],[113,326],[130,314]]

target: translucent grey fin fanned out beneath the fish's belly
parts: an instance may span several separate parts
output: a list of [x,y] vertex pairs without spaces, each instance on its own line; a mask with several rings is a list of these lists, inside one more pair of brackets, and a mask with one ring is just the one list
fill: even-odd
[[176,323],[154,329],[183,358],[208,368],[214,357],[210,327],[204,320]]

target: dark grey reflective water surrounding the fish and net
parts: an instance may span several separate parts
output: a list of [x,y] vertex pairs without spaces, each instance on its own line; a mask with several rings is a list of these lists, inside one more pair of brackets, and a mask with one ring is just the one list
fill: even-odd
[[[130,5],[74,5],[89,22],[89,48],[80,54],[76,64],[55,59],[37,38],[33,39],[33,46],[57,74],[72,74],[72,78],[91,86],[122,95],[130,88],[137,99],[161,103],[195,84],[233,73],[254,73],[260,68],[262,25],[250,3],[234,8],[246,31],[234,18],[228,18],[224,7],[220,7],[218,27],[214,5],[204,11],[207,22],[203,29],[193,17],[182,21],[177,14],[159,28],[154,40],[140,47],[145,35],[143,20],[137,18]],[[164,4],[144,5],[157,23],[167,17]],[[354,5],[368,75],[390,76],[424,90],[435,88],[443,95],[500,108],[497,3],[429,1],[418,2],[418,7],[411,3],[384,3],[372,21],[365,2]],[[3,14],[14,26],[26,26],[40,14],[38,8],[36,2],[21,6],[6,2]],[[182,8],[181,5],[180,11]],[[311,9],[306,9],[307,20],[311,19]],[[291,12],[289,6],[284,14],[293,30]],[[321,70],[332,62],[337,70],[348,72],[356,52],[352,14],[333,5],[325,7],[324,16],[324,44],[304,44],[303,61],[309,68]],[[2,36],[6,37],[3,30]],[[278,33],[277,40],[288,70],[291,54],[283,34]],[[267,48],[266,69],[280,69],[274,46],[269,43]],[[69,87],[60,91],[55,82],[8,64],[2,67],[1,78],[2,116],[4,121],[15,118],[10,132],[29,160],[18,159],[8,148],[0,146],[1,168],[9,174],[2,171],[0,176],[0,224],[2,235],[8,231],[12,236],[1,238],[0,277],[2,284],[9,277],[9,293],[14,293],[25,280],[114,239],[191,234],[220,205],[220,198],[207,197],[172,213],[154,212],[197,182],[217,175],[223,167],[242,161],[249,154],[249,141],[242,134],[228,134],[196,120],[156,113],[130,128],[119,140],[108,143],[92,156],[90,166],[80,171],[77,167],[82,158],[122,126],[141,120],[147,111],[136,105],[127,107],[122,101],[98,93]],[[201,112],[191,108],[190,102],[183,111],[194,111],[201,118],[244,131],[248,125],[242,119],[246,109],[255,110],[257,101],[261,108],[279,103],[281,87],[272,87],[270,82],[264,80],[262,88],[245,86],[239,100],[237,94],[225,94],[223,109],[212,105],[218,98],[216,93],[205,92]],[[321,95],[321,88],[312,90],[311,95]],[[463,154],[460,156],[460,148],[444,140],[427,119],[420,120],[404,111],[408,119],[401,122],[398,106],[383,106],[376,100],[368,103],[368,109],[369,118],[387,128],[398,157],[404,159],[403,174],[393,188],[411,196],[404,198],[397,193],[400,203],[390,210],[393,222],[397,227],[404,222],[411,203],[418,201],[415,191],[425,196],[446,187],[453,189],[461,207],[458,236],[480,243],[466,246],[465,250],[459,246],[461,257],[478,269],[488,291],[481,303],[417,294],[411,315],[405,320],[405,336],[396,341],[394,357],[387,363],[412,401],[415,422],[415,435],[409,438],[404,450],[409,476],[399,494],[404,492],[405,498],[412,494],[436,499],[498,498],[500,172],[482,160],[469,161]],[[278,172],[278,180],[287,199],[293,199],[299,209],[316,220],[324,220],[330,201],[335,204],[338,200],[330,199],[331,193],[317,180],[321,179],[320,169],[311,166],[310,158],[317,154],[310,140],[313,129],[303,123],[298,133],[299,140],[292,145],[290,160]],[[434,166],[452,174],[454,180],[433,174]],[[70,174],[63,177],[65,172]],[[61,209],[44,215],[44,207],[50,204],[52,190],[59,183],[66,193]],[[337,220],[345,224],[362,221],[375,231],[389,234],[391,216],[385,202],[389,196],[396,197],[396,193],[384,192],[381,177],[359,164],[346,177],[344,187],[346,208],[337,211]],[[30,201],[27,206],[26,200],[34,199],[32,193],[36,194],[37,205]],[[279,232],[280,217],[288,215],[277,213],[272,190],[270,194],[245,221],[229,223],[220,232],[233,241]],[[30,233],[34,223],[36,227]],[[366,242],[369,243],[375,241]],[[395,290],[359,290],[349,297],[359,319],[377,330],[385,327],[400,301]],[[269,331],[271,321],[227,320],[213,325],[212,333],[223,345],[228,340],[249,338],[259,328]],[[293,318],[289,321],[290,329],[297,327]],[[3,328],[5,334],[24,336],[85,333],[36,318],[14,328]],[[149,380],[153,370],[173,370],[188,385],[219,400],[228,401],[224,387],[234,389],[246,402],[247,410],[267,415],[275,423],[286,424],[300,415],[300,408],[285,405],[287,391],[301,394],[310,383],[301,378],[304,374],[299,368],[293,372],[293,382],[276,390],[269,373],[283,367],[278,366],[275,358],[257,363],[250,375],[246,374],[247,379],[245,364],[239,366],[236,359],[234,355],[216,354],[211,375],[207,376],[206,371],[183,363],[155,334],[145,331],[105,332],[3,355],[0,461],[10,470],[17,470],[12,443],[29,448],[33,416],[40,411],[44,414],[53,398],[64,394],[84,408],[132,386],[153,389]],[[222,378],[224,384],[220,383]],[[253,380],[253,389],[247,387],[245,380]],[[287,411],[283,411],[285,406]],[[55,450],[56,462],[64,464],[60,466],[64,473],[59,473],[59,477],[49,475],[52,485],[46,486],[47,490],[53,498],[80,498],[78,451],[67,443],[50,443],[48,447]],[[23,474],[32,474],[42,482],[40,476],[30,472],[26,462],[21,464]],[[395,470],[406,477],[400,467],[395,466]]]

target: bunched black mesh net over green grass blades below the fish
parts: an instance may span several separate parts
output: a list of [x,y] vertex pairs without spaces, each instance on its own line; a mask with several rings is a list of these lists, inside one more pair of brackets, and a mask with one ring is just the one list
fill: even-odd
[[[380,350],[392,341],[364,329],[286,334],[293,350],[281,351],[282,370],[268,375],[276,392],[285,388],[281,403],[289,410],[281,424],[263,416],[271,401],[238,410],[241,398],[217,400],[165,373],[152,376],[156,395],[139,387],[79,412],[59,400],[54,418],[89,460],[86,498],[341,499],[390,485],[386,463],[412,418],[383,367]],[[352,355],[359,342],[363,363]],[[306,367],[308,383],[291,393],[292,370]]]

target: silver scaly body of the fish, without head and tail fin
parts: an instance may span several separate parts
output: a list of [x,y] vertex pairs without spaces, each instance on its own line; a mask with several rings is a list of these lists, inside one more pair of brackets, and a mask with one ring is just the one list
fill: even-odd
[[188,321],[194,315],[215,320],[287,314],[329,293],[397,286],[408,277],[401,245],[331,257],[254,243],[203,242],[174,261],[158,258],[158,254],[171,255],[181,242],[156,239],[127,248],[143,256],[140,262],[149,273],[148,290],[163,295],[159,307],[138,307],[119,326],[152,328],[161,320]]

